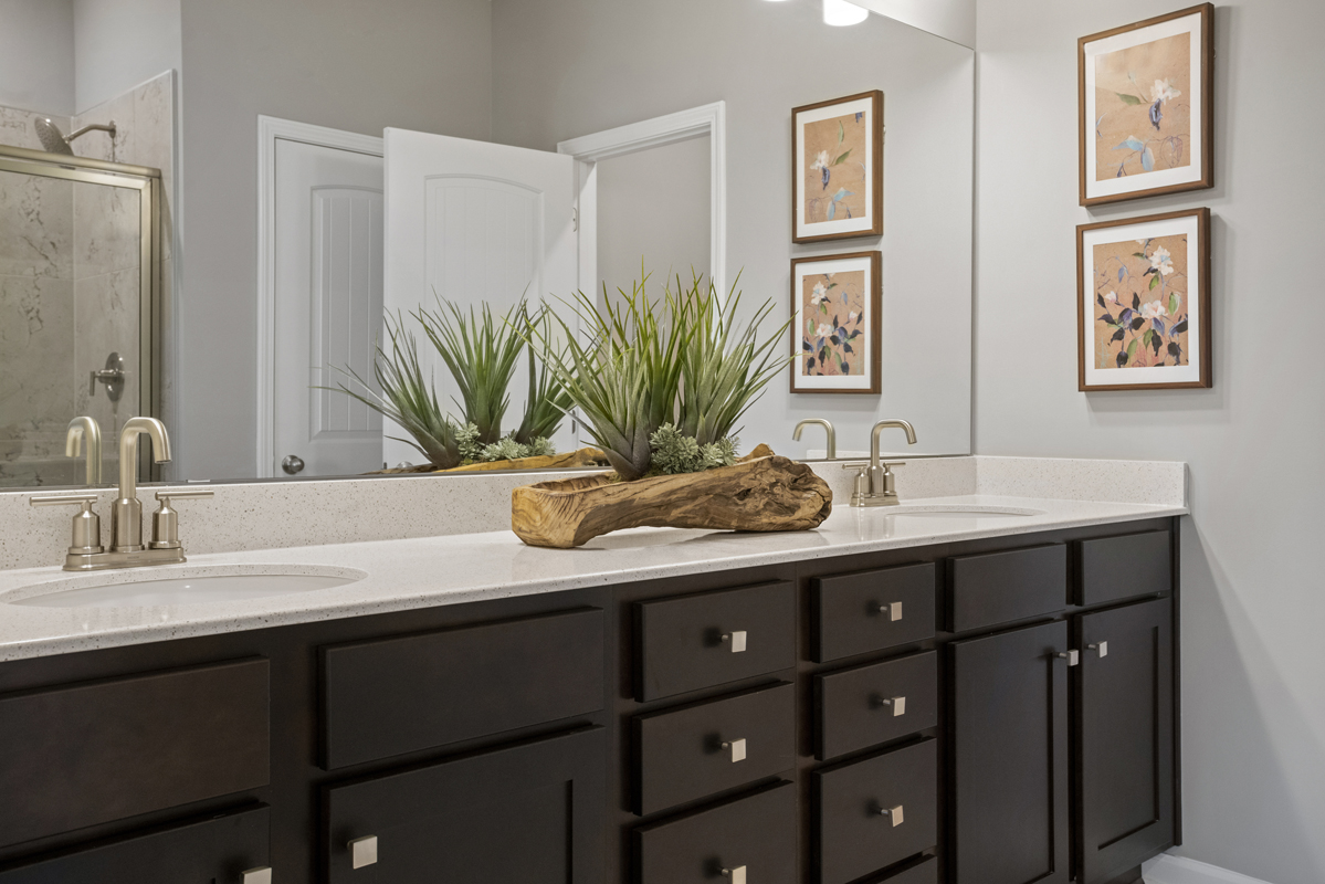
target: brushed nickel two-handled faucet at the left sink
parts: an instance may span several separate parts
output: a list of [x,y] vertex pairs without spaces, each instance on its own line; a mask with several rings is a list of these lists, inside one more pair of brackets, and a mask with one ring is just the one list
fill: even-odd
[[[87,420],[87,419],[78,419]],[[78,423],[76,420],[74,423]],[[93,421],[95,427],[95,421]],[[82,427],[80,436],[87,432]],[[160,508],[152,514],[152,541],[143,546],[143,505],[138,500],[138,436],[151,440],[152,460],[170,461],[170,435],[166,424],[155,417],[131,417],[119,433],[119,497],[110,510],[110,549],[101,545],[101,520],[93,512],[97,494],[33,496],[33,506],[60,506],[76,504],[81,512],[74,516],[73,541],[65,554],[66,571],[101,571],[142,565],[170,565],[183,562],[184,547],[179,541],[179,514],[171,509],[171,500],[211,497],[209,490],[156,492]],[[70,428],[70,440],[74,436]],[[99,440],[99,432],[91,439]],[[72,445],[73,443],[70,443]],[[91,443],[89,441],[89,448]],[[99,456],[98,456],[99,463]],[[89,476],[91,467],[89,465]]]

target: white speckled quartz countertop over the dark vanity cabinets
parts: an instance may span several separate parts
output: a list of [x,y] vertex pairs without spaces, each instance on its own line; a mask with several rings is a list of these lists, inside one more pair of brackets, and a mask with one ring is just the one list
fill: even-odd
[[[814,531],[734,534],[635,529],[600,537],[580,549],[546,550],[525,546],[514,534],[505,530],[204,553],[189,555],[186,565],[131,571],[73,575],[58,567],[4,570],[0,571],[0,660],[1185,514],[1187,510],[1182,494],[1182,465],[1166,467],[1175,468],[1179,477],[1179,493],[1170,496],[1166,502],[1110,502],[977,493],[909,498],[900,510],[856,509],[847,506],[847,497],[841,493],[843,489],[837,488],[832,516]],[[1006,467],[999,469],[1006,472]],[[1004,486],[1007,481],[1002,476],[998,480],[999,485]],[[945,505],[1015,508],[1036,510],[1036,514],[969,516],[917,512],[926,506]],[[62,550],[60,553],[62,554]],[[52,558],[58,557],[52,555]],[[9,603],[49,592],[57,588],[49,586],[56,582],[61,584],[58,588],[76,588],[110,582],[244,573],[344,577],[362,573],[366,577],[333,588],[242,602],[123,608],[36,607]]]

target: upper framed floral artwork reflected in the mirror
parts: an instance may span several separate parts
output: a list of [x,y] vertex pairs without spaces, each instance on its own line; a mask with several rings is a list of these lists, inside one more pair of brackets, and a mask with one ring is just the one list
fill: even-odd
[[795,243],[884,232],[884,93],[791,111],[791,231]]

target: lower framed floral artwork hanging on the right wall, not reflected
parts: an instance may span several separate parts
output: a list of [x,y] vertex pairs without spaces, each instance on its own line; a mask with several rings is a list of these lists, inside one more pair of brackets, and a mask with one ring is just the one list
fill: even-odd
[[1210,209],[1077,228],[1079,388],[1210,387]]

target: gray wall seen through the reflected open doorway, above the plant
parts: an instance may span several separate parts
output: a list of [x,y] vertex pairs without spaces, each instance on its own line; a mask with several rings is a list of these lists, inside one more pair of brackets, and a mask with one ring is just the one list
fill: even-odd
[[689,284],[690,268],[708,277],[709,151],[709,138],[692,138],[598,164],[600,296],[603,282],[610,294],[629,292],[641,260],[652,282],[680,273]]

